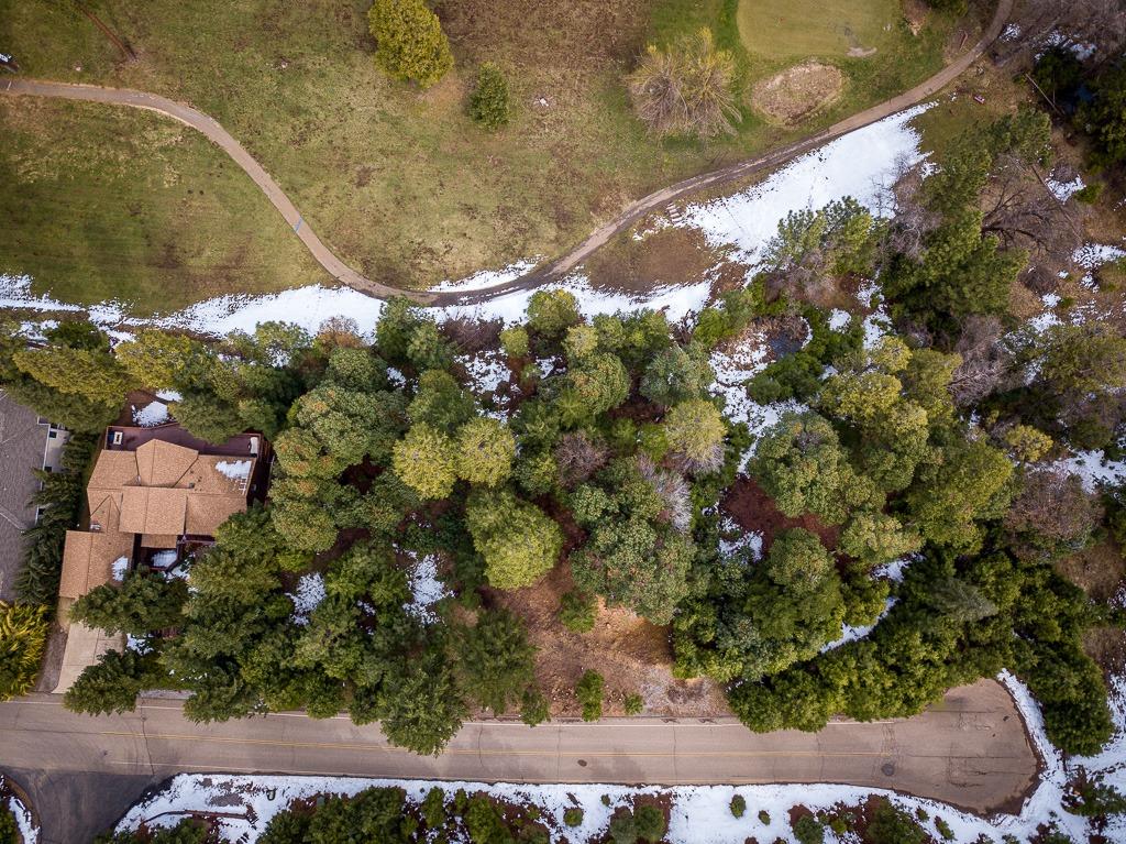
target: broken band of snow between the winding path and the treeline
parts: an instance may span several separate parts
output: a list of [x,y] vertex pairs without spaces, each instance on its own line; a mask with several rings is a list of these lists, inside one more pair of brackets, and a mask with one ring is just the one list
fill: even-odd
[[[713,243],[733,245],[739,254],[754,259],[776,233],[778,222],[790,211],[817,208],[846,195],[856,197],[876,213],[888,213],[883,187],[902,161],[918,161],[919,134],[910,125],[923,110],[919,106],[858,130],[803,156],[762,183],[724,199],[688,206],[681,220],[699,226]],[[438,290],[480,291],[526,273],[534,261],[521,261],[501,270],[485,270],[461,282],[445,282]],[[50,295],[33,295],[27,276],[0,275],[0,309],[87,313],[111,330],[142,326],[184,328],[200,334],[226,335],[253,331],[267,321],[295,322],[316,331],[328,319],[349,317],[369,334],[379,319],[383,303],[348,287],[311,285],[267,295],[226,295],[198,302],[175,313],[151,319],[128,316],[125,302],[104,302],[90,308],[59,302]],[[587,316],[614,313],[640,308],[664,309],[676,321],[698,312],[711,294],[711,282],[686,286],[661,286],[649,293],[633,294],[596,290],[581,272],[548,287],[570,290]],[[522,318],[531,291],[515,291],[473,306],[435,309],[439,320],[481,317],[513,322]],[[34,325],[28,326],[35,330]]]

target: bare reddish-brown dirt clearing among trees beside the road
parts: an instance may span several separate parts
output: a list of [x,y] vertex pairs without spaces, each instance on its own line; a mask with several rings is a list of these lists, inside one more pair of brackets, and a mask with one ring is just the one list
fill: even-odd
[[606,678],[604,714],[625,714],[625,695],[645,700],[645,714],[671,718],[711,718],[730,714],[723,691],[712,681],[672,677],[669,629],[650,624],[628,610],[599,602],[598,619],[589,633],[572,633],[556,614],[560,598],[574,588],[571,568],[556,566],[535,586],[515,592],[485,590],[490,605],[503,606],[528,625],[536,655],[536,679],[551,701],[555,717],[578,717],[581,707],[574,685],[587,669]]

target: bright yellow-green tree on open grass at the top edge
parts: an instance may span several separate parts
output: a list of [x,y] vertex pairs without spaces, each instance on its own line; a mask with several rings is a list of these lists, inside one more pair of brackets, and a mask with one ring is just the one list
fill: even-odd
[[388,75],[429,88],[454,66],[438,16],[422,0],[375,0],[367,17],[375,63]]

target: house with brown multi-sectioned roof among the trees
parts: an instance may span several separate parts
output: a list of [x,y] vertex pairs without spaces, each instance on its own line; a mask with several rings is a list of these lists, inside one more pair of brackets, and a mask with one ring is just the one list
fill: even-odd
[[[213,542],[221,524],[265,496],[267,452],[253,433],[216,445],[176,423],[108,428],[87,486],[90,530],[66,532],[61,601],[119,581],[136,563],[160,568],[187,547]],[[55,691],[114,646],[100,631],[71,624]]]

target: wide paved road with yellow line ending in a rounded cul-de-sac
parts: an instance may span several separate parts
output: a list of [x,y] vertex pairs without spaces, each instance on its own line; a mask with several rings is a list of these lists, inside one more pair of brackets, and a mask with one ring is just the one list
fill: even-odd
[[[990,812],[1019,805],[1037,762],[1008,693],[982,681],[953,690],[915,718],[832,723],[817,734],[756,735],[733,719],[535,729],[474,722],[438,757],[390,747],[376,727],[356,727],[343,717],[314,721],[284,713],[194,725],[176,701],[153,699],[135,713],[89,718],[63,710],[57,696],[33,695],[0,704],[0,767],[14,771],[43,808],[44,844],[72,844],[106,823],[106,807],[120,811],[145,787],[180,771],[531,783],[839,782]],[[83,779],[89,774],[95,776]],[[73,801],[83,789],[93,796]],[[64,805],[75,808],[54,811]]]

